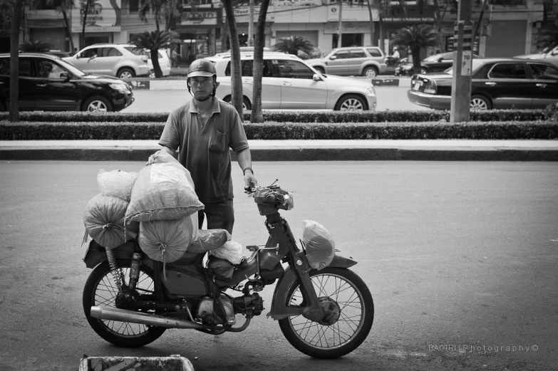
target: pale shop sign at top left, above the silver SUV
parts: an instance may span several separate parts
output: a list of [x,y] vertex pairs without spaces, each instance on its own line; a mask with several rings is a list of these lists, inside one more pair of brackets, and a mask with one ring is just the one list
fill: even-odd
[[121,31],[121,0],[88,1],[88,6],[86,6],[86,1],[80,1],[80,6],[72,10],[72,32],[83,30],[84,19],[86,21],[86,32]]

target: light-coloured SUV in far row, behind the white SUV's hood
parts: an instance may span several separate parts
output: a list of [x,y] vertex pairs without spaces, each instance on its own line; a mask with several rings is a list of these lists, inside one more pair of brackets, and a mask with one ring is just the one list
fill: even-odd
[[336,48],[324,58],[306,59],[322,75],[375,77],[386,73],[385,56],[377,46],[352,46]]

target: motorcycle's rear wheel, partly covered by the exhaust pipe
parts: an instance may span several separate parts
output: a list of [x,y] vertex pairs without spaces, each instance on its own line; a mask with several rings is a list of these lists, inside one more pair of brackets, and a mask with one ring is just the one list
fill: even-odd
[[[118,269],[125,275],[125,282],[129,283],[129,271],[131,261],[128,259],[117,259]],[[140,267],[140,278],[137,291],[140,296],[153,296],[154,274],[149,266]],[[157,340],[166,328],[141,325],[139,323],[118,322],[113,320],[99,320],[91,317],[91,307],[100,305],[116,308],[115,297],[118,293],[108,261],[100,263],[89,275],[86,286],[83,288],[83,311],[91,328],[101,338],[118,347],[138,348],[148,345]]]

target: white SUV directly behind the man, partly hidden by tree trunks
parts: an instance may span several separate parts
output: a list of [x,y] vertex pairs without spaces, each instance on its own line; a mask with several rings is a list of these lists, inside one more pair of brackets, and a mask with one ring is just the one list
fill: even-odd
[[[252,109],[254,56],[242,53],[244,109]],[[217,98],[231,100],[231,59],[217,59]],[[297,56],[264,52],[263,109],[376,110],[376,91],[370,80],[322,75]]]

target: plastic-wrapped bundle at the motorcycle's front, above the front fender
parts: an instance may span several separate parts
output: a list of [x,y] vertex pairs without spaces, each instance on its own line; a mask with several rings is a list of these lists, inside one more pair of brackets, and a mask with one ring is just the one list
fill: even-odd
[[335,241],[324,226],[316,221],[304,220],[302,241],[312,268],[320,270],[329,266],[335,256]]

